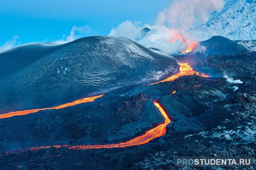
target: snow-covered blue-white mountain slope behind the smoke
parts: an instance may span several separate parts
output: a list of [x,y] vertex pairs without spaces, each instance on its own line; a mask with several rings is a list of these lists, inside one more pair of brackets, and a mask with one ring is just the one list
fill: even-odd
[[197,40],[214,35],[231,40],[256,39],[256,0],[225,0],[221,12],[212,13],[206,24],[190,31]]

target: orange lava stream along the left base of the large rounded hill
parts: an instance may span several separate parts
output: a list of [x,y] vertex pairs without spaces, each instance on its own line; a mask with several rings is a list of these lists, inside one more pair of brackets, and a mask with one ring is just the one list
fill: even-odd
[[13,117],[13,116],[22,116],[22,115],[27,115],[27,114],[30,114],[30,113],[36,113],[40,110],[62,109],[62,108],[65,108],[65,107],[74,106],[74,105],[81,104],[81,103],[93,102],[95,99],[97,99],[97,98],[99,98],[103,95],[104,94],[97,95],[97,96],[92,96],[92,97],[81,98],[81,99],[72,101],[70,103],[65,103],[65,104],[62,104],[62,105],[56,106],[56,107],[49,107],[49,108],[43,108],[43,109],[21,110],[21,111],[5,113],[5,114],[0,115],[0,119],[9,118],[9,117]]

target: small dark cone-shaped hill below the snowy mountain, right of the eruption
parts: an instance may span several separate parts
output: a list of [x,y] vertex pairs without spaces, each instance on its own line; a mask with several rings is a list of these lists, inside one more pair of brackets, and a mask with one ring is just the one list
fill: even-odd
[[242,45],[222,36],[213,36],[199,42],[199,45],[206,47],[206,54],[231,55],[245,49]]

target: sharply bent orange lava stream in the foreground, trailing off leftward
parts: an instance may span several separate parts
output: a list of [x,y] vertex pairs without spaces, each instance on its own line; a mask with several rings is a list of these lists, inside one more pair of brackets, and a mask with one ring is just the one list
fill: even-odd
[[46,149],[46,148],[61,148],[61,147],[67,147],[68,149],[102,149],[102,148],[121,148],[121,147],[128,147],[128,146],[135,146],[135,145],[142,145],[146,144],[149,141],[159,138],[161,136],[164,136],[166,134],[166,126],[171,123],[171,119],[168,117],[167,112],[165,109],[157,102],[154,101],[155,106],[159,109],[163,117],[165,118],[165,122],[158,125],[157,127],[148,130],[145,134],[138,136],[136,138],[133,138],[126,142],[120,142],[120,143],[114,143],[114,144],[94,144],[94,145],[52,145],[52,146],[39,146],[39,147],[31,147],[27,149],[19,149],[16,151],[8,151],[6,154],[13,153],[13,152],[24,152],[24,151],[37,151],[40,149]]

